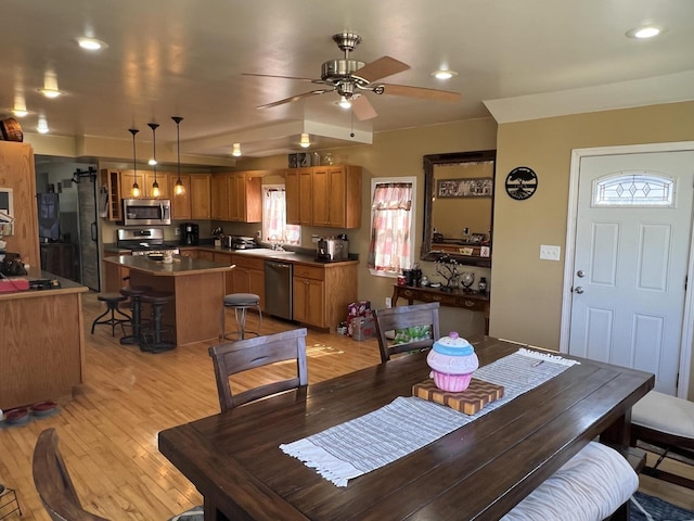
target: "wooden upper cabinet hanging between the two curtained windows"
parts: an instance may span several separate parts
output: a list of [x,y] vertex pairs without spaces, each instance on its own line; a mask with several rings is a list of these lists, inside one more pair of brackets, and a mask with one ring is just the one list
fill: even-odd
[[288,223],[329,228],[361,226],[360,166],[290,168],[285,188]]

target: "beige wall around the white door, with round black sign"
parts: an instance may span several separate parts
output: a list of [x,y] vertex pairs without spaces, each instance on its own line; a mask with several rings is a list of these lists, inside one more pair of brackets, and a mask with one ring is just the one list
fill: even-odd
[[[690,140],[694,102],[500,125],[490,334],[558,346],[573,149]],[[538,190],[526,201],[504,192],[516,166],[538,175]],[[540,260],[540,244],[561,245],[562,262]]]

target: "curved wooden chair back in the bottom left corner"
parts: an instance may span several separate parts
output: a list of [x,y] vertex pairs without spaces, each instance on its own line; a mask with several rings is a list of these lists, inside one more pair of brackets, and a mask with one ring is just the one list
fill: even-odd
[[39,434],[31,466],[34,484],[53,521],[108,521],[82,508],[57,447],[55,429]]

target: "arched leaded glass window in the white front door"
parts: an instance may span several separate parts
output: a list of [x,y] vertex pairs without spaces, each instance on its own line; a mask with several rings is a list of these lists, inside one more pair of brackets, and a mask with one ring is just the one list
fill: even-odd
[[593,181],[593,206],[674,206],[674,181],[648,171],[620,171]]

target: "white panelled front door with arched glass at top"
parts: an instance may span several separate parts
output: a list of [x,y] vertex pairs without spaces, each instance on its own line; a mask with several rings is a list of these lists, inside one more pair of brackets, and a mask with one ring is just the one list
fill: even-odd
[[568,351],[677,394],[694,151],[581,158]]

